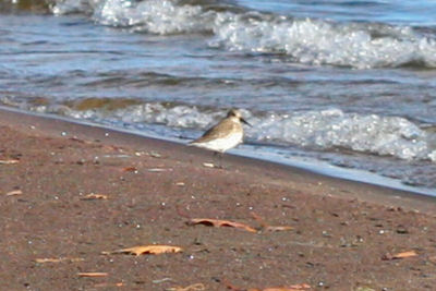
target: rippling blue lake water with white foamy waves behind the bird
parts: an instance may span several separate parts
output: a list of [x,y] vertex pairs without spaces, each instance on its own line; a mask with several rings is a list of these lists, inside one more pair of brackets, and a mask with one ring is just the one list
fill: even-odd
[[233,153],[436,194],[436,1],[41,3],[0,1],[2,105],[183,143],[237,107]]

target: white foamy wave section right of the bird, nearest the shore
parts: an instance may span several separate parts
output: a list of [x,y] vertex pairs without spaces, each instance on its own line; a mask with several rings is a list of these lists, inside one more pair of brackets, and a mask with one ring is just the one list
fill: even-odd
[[258,141],[436,161],[436,150],[428,144],[427,133],[400,117],[362,116],[331,109],[269,114],[252,122]]

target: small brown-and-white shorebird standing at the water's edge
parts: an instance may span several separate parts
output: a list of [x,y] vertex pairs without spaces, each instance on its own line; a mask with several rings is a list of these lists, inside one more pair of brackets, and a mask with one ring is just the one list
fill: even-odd
[[203,147],[219,154],[219,168],[221,168],[222,154],[242,143],[244,130],[241,122],[251,126],[251,124],[242,118],[239,110],[231,109],[226,118],[206,131],[201,137],[192,141],[189,145]]

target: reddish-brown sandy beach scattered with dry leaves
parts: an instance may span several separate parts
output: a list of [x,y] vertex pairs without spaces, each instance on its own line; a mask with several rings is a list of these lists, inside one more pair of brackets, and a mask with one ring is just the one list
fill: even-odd
[[[7,109],[0,132],[1,290],[436,286],[434,198]],[[112,253],[155,244],[182,252]]]

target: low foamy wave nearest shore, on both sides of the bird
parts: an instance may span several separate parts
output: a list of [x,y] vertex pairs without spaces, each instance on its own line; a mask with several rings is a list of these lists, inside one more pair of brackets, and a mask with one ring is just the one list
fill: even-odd
[[[43,112],[61,113],[80,119],[154,123],[179,129],[204,130],[226,112],[172,102],[137,104],[138,100],[105,98],[65,102],[64,106],[34,106]],[[246,129],[252,143],[296,146],[313,150],[337,149],[403,160],[436,161],[435,136],[400,117],[346,113],[339,109],[253,114],[243,110],[253,124]]]

